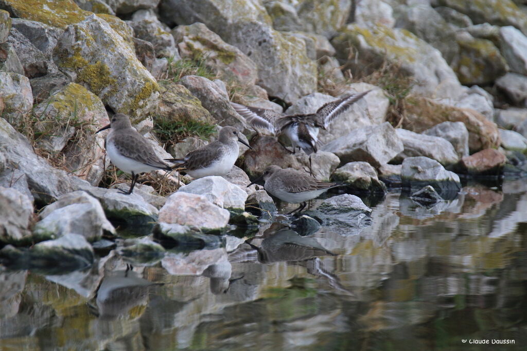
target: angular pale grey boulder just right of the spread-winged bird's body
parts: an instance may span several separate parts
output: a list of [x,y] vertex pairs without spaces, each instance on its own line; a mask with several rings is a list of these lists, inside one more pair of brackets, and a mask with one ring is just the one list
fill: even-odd
[[324,145],[322,151],[334,153],[340,163],[366,161],[374,167],[388,163],[404,150],[404,144],[388,122],[357,128],[353,133]]

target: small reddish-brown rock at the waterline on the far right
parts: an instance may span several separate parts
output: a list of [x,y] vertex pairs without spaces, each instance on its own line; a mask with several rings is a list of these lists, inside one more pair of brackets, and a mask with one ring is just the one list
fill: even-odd
[[495,149],[484,149],[463,157],[458,165],[460,173],[469,175],[500,175],[507,158]]

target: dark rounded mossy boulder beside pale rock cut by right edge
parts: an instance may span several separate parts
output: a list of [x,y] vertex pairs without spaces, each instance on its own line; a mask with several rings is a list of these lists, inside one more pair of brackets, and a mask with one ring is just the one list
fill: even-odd
[[465,32],[456,36],[456,42],[459,52],[451,66],[462,84],[489,84],[508,70],[505,59],[491,41]]

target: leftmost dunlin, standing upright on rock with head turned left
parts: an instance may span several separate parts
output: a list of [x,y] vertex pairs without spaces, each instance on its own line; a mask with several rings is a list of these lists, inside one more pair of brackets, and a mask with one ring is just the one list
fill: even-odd
[[122,113],[115,114],[110,124],[102,127],[96,133],[111,128],[106,136],[106,152],[110,161],[121,171],[132,174],[130,190],[125,195],[132,194],[139,173],[150,172],[154,169],[171,171],[170,165],[164,163],[154,152],[147,138],[132,127],[130,118]]

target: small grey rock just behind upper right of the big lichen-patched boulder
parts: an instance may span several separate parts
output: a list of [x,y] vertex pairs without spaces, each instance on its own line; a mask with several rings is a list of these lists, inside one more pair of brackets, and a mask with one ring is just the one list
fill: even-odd
[[159,21],[152,9],[136,11],[128,23],[134,29],[136,37],[152,43],[155,52],[175,45],[170,28]]

